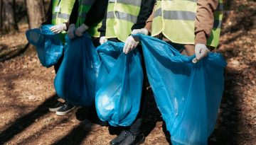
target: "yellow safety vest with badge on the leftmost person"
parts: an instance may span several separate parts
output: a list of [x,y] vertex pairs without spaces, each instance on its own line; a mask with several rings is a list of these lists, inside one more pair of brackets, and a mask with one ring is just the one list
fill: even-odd
[[[67,23],[70,18],[70,14],[72,12],[74,4],[75,0],[53,0],[52,25]],[[65,42],[65,34],[65,31],[60,33],[60,39],[63,40],[63,42]]]

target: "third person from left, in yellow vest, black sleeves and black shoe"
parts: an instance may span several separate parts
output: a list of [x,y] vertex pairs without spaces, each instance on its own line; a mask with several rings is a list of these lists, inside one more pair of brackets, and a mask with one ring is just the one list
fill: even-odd
[[[131,33],[144,28],[146,19],[149,18],[154,8],[155,0],[109,0],[105,18],[102,21],[100,31],[100,44],[109,41],[125,42],[126,47],[135,46]],[[141,47],[138,45],[137,47]],[[142,50],[142,49],[139,49]],[[142,51],[141,51],[142,53]],[[144,61],[143,61],[144,62]],[[144,76],[146,76],[146,69]],[[144,122],[144,112],[146,110],[147,92],[144,80],[142,90],[142,101],[137,119],[131,127],[125,127],[122,132],[110,144],[142,144],[145,140],[142,134],[142,124]]]

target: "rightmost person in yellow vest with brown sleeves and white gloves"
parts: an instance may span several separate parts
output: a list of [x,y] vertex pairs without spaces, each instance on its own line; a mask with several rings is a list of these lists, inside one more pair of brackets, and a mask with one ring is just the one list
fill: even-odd
[[181,54],[196,54],[196,59],[193,59],[196,63],[218,46],[222,18],[223,0],[158,0],[145,28],[134,34],[151,33],[151,36],[169,42]]

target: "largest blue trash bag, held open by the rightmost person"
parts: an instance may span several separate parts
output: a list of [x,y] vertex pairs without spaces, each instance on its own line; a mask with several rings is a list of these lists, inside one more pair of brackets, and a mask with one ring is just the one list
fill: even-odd
[[210,52],[193,64],[195,56],[180,54],[162,40],[134,37],[142,40],[146,73],[172,144],[207,144],[223,95],[223,57]]

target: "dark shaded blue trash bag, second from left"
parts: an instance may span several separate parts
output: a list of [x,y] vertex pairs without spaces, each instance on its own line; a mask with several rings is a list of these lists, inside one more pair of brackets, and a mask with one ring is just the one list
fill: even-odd
[[65,39],[63,62],[54,80],[55,91],[70,104],[90,106],[95,101],[100,57],[87,33],[73,40],[66,35]]

